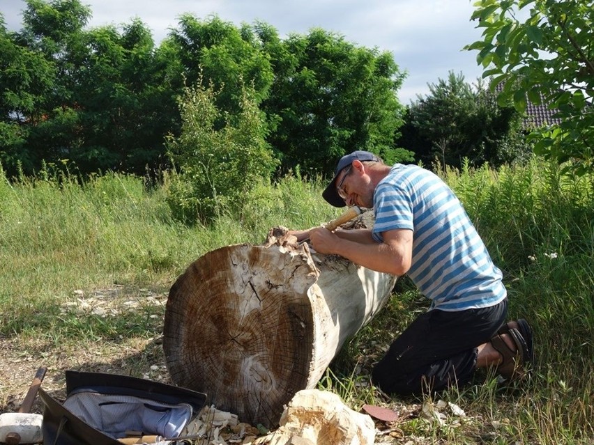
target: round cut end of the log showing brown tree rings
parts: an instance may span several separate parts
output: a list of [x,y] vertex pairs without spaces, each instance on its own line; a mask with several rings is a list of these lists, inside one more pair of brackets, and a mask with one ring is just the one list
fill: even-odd
[[[279,260],[284,260],[279,263]],[[182,387],[218,409],[271,426],[307,384],[317,272],[307,257],[224,247],[192,263],[167,301],[163,348]]]

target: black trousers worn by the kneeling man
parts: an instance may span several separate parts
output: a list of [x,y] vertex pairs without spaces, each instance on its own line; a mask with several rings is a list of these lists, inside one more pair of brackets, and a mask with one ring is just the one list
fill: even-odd
[[507,300],[484,309],[420,315],[372,371],[372,382],[398,396],[433,393],[471,380],[477,346],[486,343],[505,322]]

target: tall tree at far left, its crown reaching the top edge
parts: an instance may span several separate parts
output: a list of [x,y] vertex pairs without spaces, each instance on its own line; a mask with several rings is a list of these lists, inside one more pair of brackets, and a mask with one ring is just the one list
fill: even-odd
[[[39,169],[41,162],[55,162],[69,158],[77,146],[77,134],[73,128],[79,124],[79,116],[73,108],[73,63],[75,49],[90,17],[90,10],[78,0],[27,0],[23,14],[23,29],[13,34],[13,40],[24,52],[35,54],[40,65],[47,67],[46,82],[38,95],[35,107],[24,111],[20,120],[26,133],[24,172]],[[25,67],[24,67],[25,68]],[[33,68],[24,72],[30,75]]]

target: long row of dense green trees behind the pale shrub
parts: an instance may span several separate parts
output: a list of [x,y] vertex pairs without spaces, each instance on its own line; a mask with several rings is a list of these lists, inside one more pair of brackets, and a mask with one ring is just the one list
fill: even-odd
[[190,14],[155,47],[140,19],[88,29],[81,0],[25,1],[21,31],[0,24],[0,162],[9,176],[64,159],[81,173],[167,168],[165,137],[183,124],[178,97],[199,79],[218,92],[213,130],[243,113],[250,85],[280,171],[330,174],[356,149],[387,162],[410,155],[394,145],[404,75],[388,52],[321,29],[282,40],[263,22]]

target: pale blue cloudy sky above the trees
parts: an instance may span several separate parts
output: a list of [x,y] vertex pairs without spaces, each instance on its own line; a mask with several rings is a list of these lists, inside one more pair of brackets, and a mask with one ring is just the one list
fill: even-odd
[[[183,13],[199,19],[218,15],[236,26],[266,22],[282,38],[322,28],[358,46],[391,52],[407,77],[398,92],[402,104],[429,94],[427,84],[447,79],[448,72],[475,83],[482,70],[475,51],[464,45],[480,40],[471,22],[473,0],[82,0],[90,6],[90,27],[121,26],[139,19],[151,29],[155,43],[175,28]],[[22,27],[24,0],[0,0],[11,31]]]

